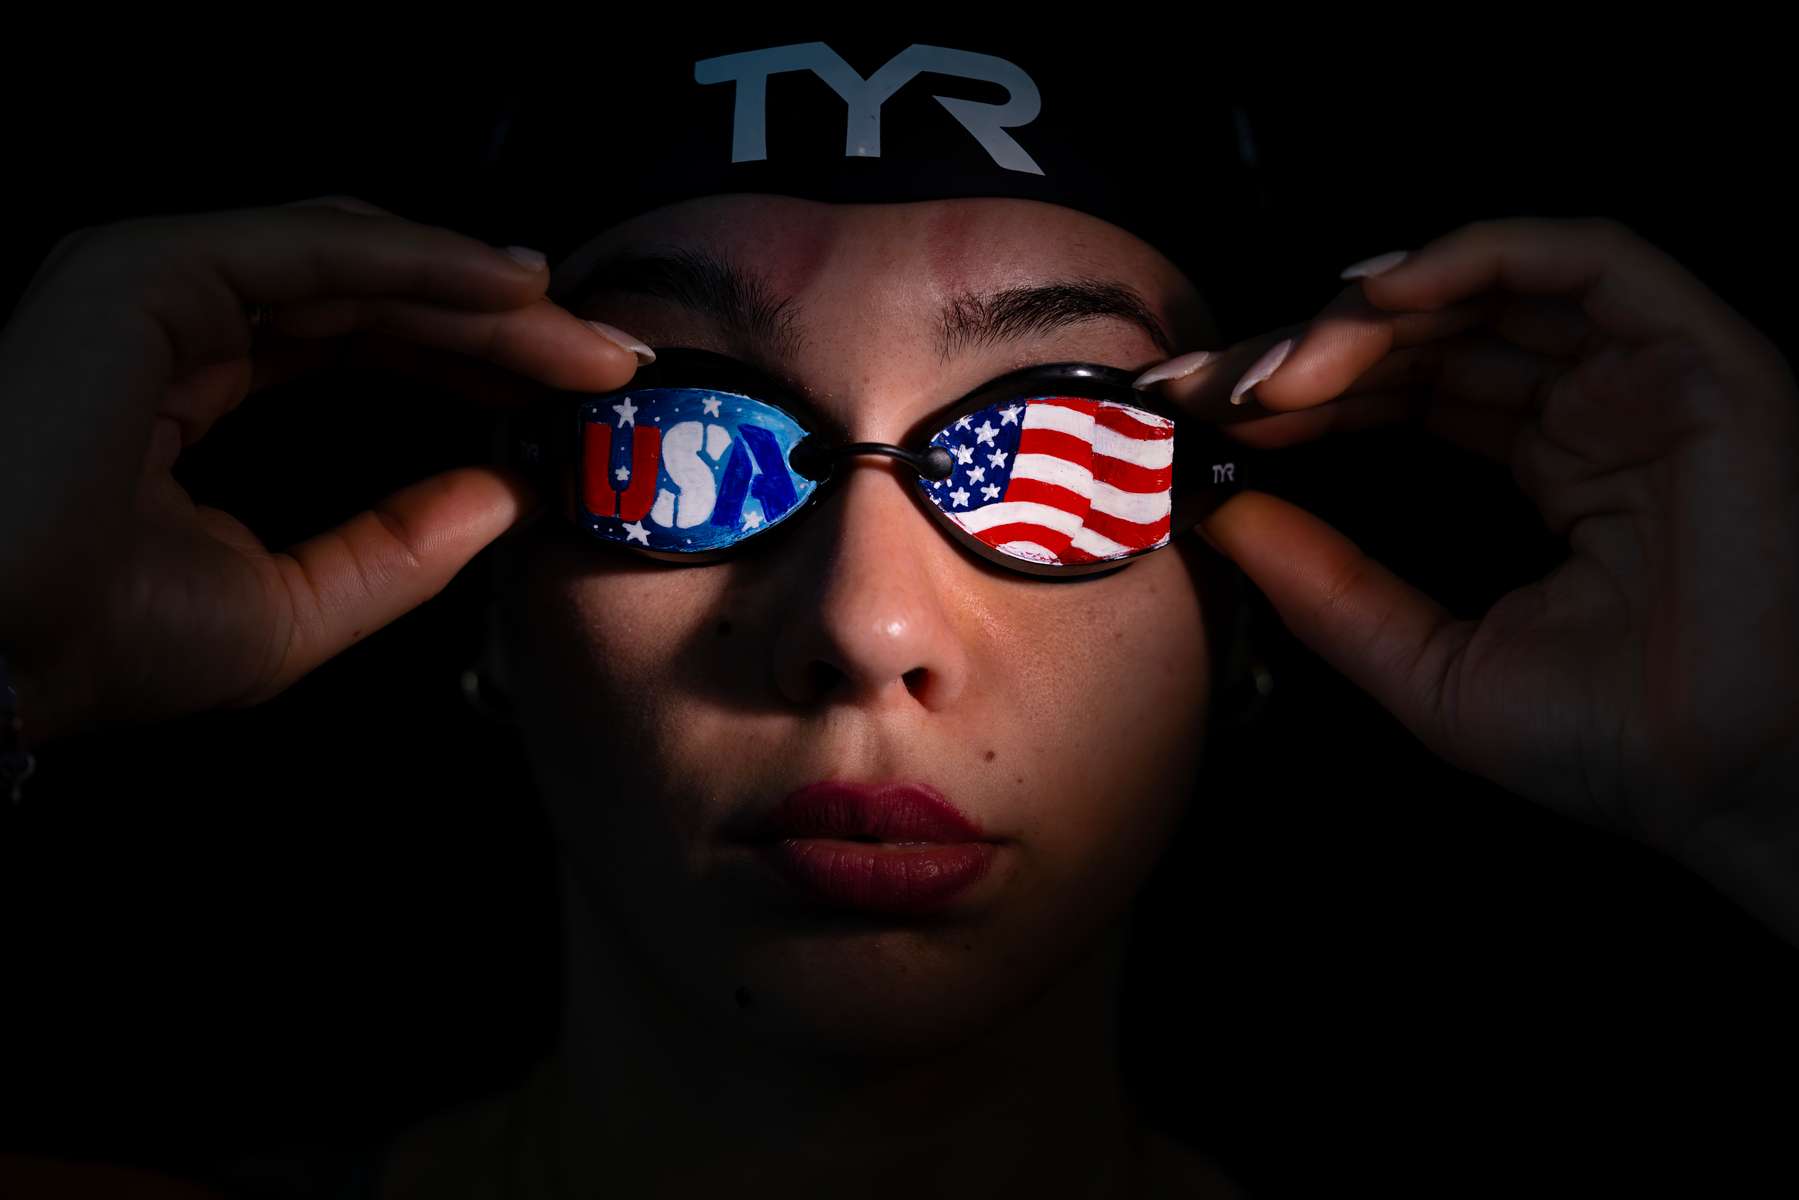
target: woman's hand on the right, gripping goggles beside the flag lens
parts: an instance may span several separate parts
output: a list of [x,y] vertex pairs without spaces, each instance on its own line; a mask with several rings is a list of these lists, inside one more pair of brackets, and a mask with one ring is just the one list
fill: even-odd
[[[1160,389],[1229,403],[1258,342]],[[1293,635],[1455,766],[1693,865],[1731,847],[1799,873],[1799,387],[1767,336],[1616,221],[1500,219],[1358,279],[1272,351],[1254,398],[1281,416],[1229,435],[1421,419],[1509,464],[1569,543],[1459,621],[1245,491],[1202,531]]]

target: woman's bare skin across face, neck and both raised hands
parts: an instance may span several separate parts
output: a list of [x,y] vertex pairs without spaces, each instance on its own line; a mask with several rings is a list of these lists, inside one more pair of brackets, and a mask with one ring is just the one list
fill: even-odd
[[[748,304],[766,318],[734,329],[640,284],[572,290],[594,261],[651,248],[754,268],[765,293],[738,295],[766,300]],[[158,263],[171,257],[200,282],[169,286]],[[1781,500],[1792,374],[1626,230],[1457,230],[1405,261],[1362,264],[1308,326],[1234,345],[1155,245],[1022,196],[826,205],[702,193],[603,225],[554,286],[520,257],[515,266],[347,200],[65,243],[9,327],[9,380],[56,378],[72,360],[59,345],[95,329],[88,320],[77,333],[72,306],[101,291],[128,297],[101,327],[131,353],[92,381],[59,380],[56,419],[36,410],[29,439],[23,425],[5,430],[4,444],[63,468],[32,477],[9,461],[20,470],[4,475],[14,489],[4,565],[43,581],[0,624],[27,729],[50,739],[103,712],[255,703],[435,594],[545,500],[509,475],[457,471],[277,558],[223,515],[182,511],[169,462],[255,381],[245,304],[268,306],[263,327],[281,338],[383,324],[595,392],[630,381],[648,356],[639,345],[756,360],[784,347],[786,374],[869,443],[898,443],[946,401],[1034,362],[1139,372],[1195,414],[1254,389],[1265,408],[1293,410],[1231,426],[1263,446],[1392,419],[1401,389],[1428,380],[1432,428],[1513,461],[1545,516],[1574,531],[1576,552],[1551,581],[1481,622],[1450,622],[1265,493],[1220,507],[1207,538],[1297,637],[1437,754],[1678,855],[1792,937],[1790,714],[1740,689],[1696,705],[1704,680],[1664,649],[1720,639],[1714,666],[1756,655],[1763,676],[1785,673],[1763,694],[1790,694],[1790,622],[1759,626],[1752,644],[1732,639],[1794,594],[1781,549],[1794,531]],[[297,270],[318,261],[324,277]],[[1092,313],[1027,326],[1018,340],[937,336],[948,297],[1099,270],[1119,286],[1114,299],[1142,299],[1169,345]],[[1524,299],[1499,297],[1495,279]],[[545,300],[547,288],[563,304]],[[1207,356],[1171,353],[1207,345]],[[1628,405],[1628,419],[1603,412],[1607,401]],[[121,425],[128,444],[94,443],[95,428]],[[1567,446],[1574,459],[1556,450]],[[47,547],[94,545],[83,518],[108,498],[101,462],[144,468],[151,533],[122,560],[99,547],[52,556]],[[1669,489],[1718,470],[1747,495],[1716,515],[1743,542],[1700,536],[1716,491]],[[110,475],[115,488],[121,477]],[[497,556],[491,669],[518,707],[565,851],[565,1049],[516,1094],[403,1139],[385,1195],[759,1184],[1231,1195],[1137,1124],[1106,1022],[1121,916],[1204,752],[1193,732],[1213,691],[1209,581],[1227,576],[1186,536],[1175,552],[1076,585],[1015,576],[971,560],[905,486],[887,459],[860,459],[831,506],[759,558],[729,563],[597,554],[612,547],[570,538],[550,513]],[[1619,509],[1641,516],[1596,516]],[[1664,547],[1725,556],[1707,578],[1736,587],[1695,597],[1698,608],[1669,599],[1635,570],[1660,565]],[[191,596],[194,581],[232,603],[196,612],[164,599]],[[158,671],[164,655],[205,669]],[[119,680],[160,691],[124,694]],[[1110,703],[1094,705],[1096,694]],[[1612,736],[1596,738],[1601,729]],[[1106,756],[1123,739],[1141,754]],[[989,869],[928,914],[793,907],[738,844],[738,826],[828,779],[935,788],[993,840]]]

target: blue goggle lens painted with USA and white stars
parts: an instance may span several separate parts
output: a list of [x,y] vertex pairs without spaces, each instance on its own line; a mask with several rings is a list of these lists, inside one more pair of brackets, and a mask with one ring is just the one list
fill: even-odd
[[788,455],[806,430],[732,390],[648,387],[579,405],[577,520],[606,542],[702,554],[797,513],[819,488]]

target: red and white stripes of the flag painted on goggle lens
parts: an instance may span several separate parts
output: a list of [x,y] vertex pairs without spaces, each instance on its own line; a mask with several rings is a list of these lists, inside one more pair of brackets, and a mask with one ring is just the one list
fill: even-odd
[[1090,563],[1169,534],[1175,423],[1110,399],[1033,398],[1011,482],[955,518],[988,545],[1045,563]]

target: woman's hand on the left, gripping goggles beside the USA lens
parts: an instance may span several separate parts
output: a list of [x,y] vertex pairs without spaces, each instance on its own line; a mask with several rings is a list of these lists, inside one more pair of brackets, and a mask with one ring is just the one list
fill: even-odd
[[0,331],[0,655],[27,739],[261,703],[540,504],[457,468],[272,552],[171,475],[246,394],[351,349],[489,394],[624,385],[637,356],[547,300],[534,257],[335,196],[58,243]]

